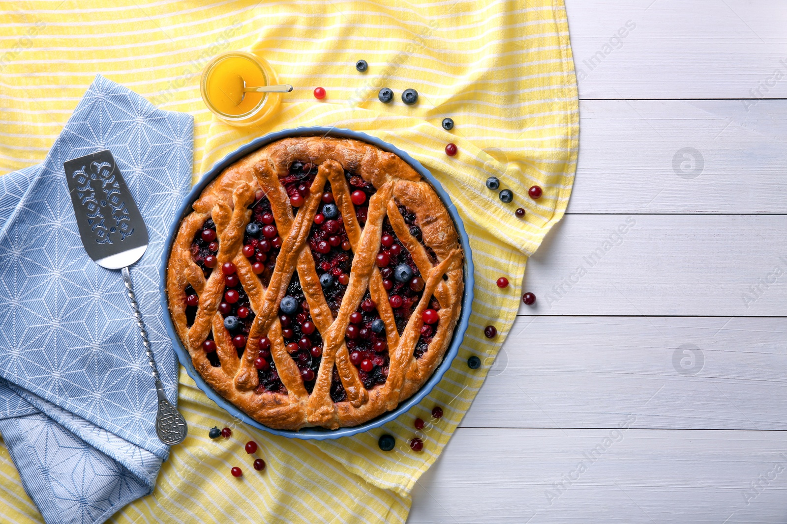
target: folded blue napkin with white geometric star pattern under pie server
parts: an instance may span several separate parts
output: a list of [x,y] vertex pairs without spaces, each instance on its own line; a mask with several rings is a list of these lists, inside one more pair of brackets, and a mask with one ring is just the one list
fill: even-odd
[[174,405],[158,268],[190,188],[193,140],[190,115],[98,75],[46,160],[0,177],[0,433],[46,522],[104,522],[153,491],[168,456],[120,271],[87,256],[63,162],[109,149],[135,197],[150,245],[131,278]]

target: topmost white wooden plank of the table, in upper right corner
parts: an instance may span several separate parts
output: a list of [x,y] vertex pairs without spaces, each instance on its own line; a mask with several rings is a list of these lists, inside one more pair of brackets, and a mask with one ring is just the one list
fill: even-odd
[[582,98],[787,97],[781,0],[565,3]]

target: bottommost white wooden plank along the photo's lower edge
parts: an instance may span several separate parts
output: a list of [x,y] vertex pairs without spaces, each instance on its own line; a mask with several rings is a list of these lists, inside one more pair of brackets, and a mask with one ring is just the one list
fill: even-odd
[[413,489],[408,522],[784,522],[784,432],[626,423],[618,431],[460,429]]

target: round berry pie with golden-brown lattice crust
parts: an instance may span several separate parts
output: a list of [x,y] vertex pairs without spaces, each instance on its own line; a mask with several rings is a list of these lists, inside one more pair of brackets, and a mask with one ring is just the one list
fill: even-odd
[[[299,183],[302,202],[297,202],[301,205],[294,214],[290,197]],[[333,222],[338,222],[340,233],[334,236],[328,236],[331,230],[327,225],[319,225],[327,223],[323,214],[317,218],[319,223],[315,218],[320,210],[326,214],[332,211],[323,201],[323,191],[329,184],[339,214]],[[353,189],[368,196],[368,207],[366,203],[354,206]],[[168,260],[172,321],[205,382],[253,419],[287,430],[356,426],[395,409],[423,386],[442,361],[460,317],[463,254],[453,221],[437,193],[398,156],[361,141],[286,138],[228,167],[192,207],[194,211],[180,224]],[[246,226],[259,221],[260,216],[265,218],[265,213],[272,214],[278,236],[249,236]],[[364,215],[365,224],[361,225]],[[212,260],[204,255],[211,252],[211,247],[205,247],[205,240],[200,240],[202,231],[211,227],[206,222],[209,219],[215,224],[218,243],[218,251],[213,254],[217,263],[212,271],[205,262]],[[273,231],[263,230],[265,235]],[[398,247],[381,247],[383,235],[387,235],[386,240],[393,237],[393,244]],[[336,238],[346,239],[349,245],[337,247]],[[328,244],[329,239],[333,244]],[[242,252],[244,242],[253,244],[256,253],[261,253],[263,247],[270,251],[249,259]],[[279,243],[281,247],[275,255],[275,245]],[[325,251],[326,246],[331,249],[327,254],[319,251]],[[392,261],[389,266],[379,267],[381,250],[388,253],[386,256]],[[400,255],[394,256],[393,251]],[[337,277],[342,264],[350,264],[345,261],[350,257],[349,275],[342,273]],[[253,266],[255,260],[257,266]],[[235,265],[237,289],[248,297],[246,310],[252,310],[246,318],[253,321],[245,321],[243,332],[235,332],[236,336],[240,333],[246,337],[238,342],[245,342],[239,349],[233,345],[234,335],[225,328],[225,317],[220,312],[222,302],[225,310],[239,311],[238,305],[230,305],[227,299],[230,288],[221,269],[225,262]],[[268,267],[260,273],[260,267],[265,267],[263,262]],[[415,268],[420,281],[397,282],[391,276],[396,262]],[[333,269],[324,269],[331,264]],[[318,273],[331,273],[338,280],[323,293]],[[346,281],[346,277],[349,281],[344,287],[339,281]],[[422,285],[423,291],[416,291]],[[386,286],[401,289],[407,304],[406,308],[401,307],[405,309],[394,312]],[[197,295],[198,306],[187,305],[187,290],[190,295]],[[288,290],[293,297],[297,293],[305,297],[294,318],[279,317],[279,306]],[[339,296],[342,291],[343,297]],[[287,303],[290,302],[293,301]],[[437,312],[436,324],[424,324],[423,312],[427,309]],[[409,318],[401,317],[403,311],[409,310]],[[353,313],[356,321],[361,317],[363,320],[348,328]],[[235,314],[239,317],[241,313]],[[368,328],[377,317],[385,324],[384,335]],[[283,321],[289,328],[283,327]],[[316,328],[311,338],[305,335],[305,324],[309,322]],[[375,325],[379,328],[380,324]],[[422,335],[422,327],[429,336]],[[287,343],[288,339],[283,338],[285,334],[294,336],[293,332],[308,339],[305,346],[322,340],[319,363],[313,354],[305,363],[303,354],[311,353],[303,345],[293,351],[294,341]],[[350,338],[348,333],[355,336]],[[203,349],[203,343],[210,338],[216,346],[215,354]],[[386,351],[372,354],[369,340],[376,340],[375,348],[387,346]],[[370,372],[353,364],[348,345],[357,351],[353,355],[356,361],[359,355],[368,355],[363,365],[371,365]],[[255,367],[258,357],[265,360],[263,371]],[[318,365],[315,378],[308,380],[309,371],[303,367]],[[368,385],[374,380],[377,383],[365,387],[364,380]]]

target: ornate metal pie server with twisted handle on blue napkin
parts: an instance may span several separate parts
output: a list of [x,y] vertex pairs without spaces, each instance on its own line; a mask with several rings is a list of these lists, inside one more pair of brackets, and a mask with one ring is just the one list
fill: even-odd
[[145,323],[131,285],[131,274],[128,272],[128,266],[142,258],[147,249],[145,221],[109,150],[66,160],[63,167],[79,225],[79,236],[87,255],[99,266],[121,269],[123,273],[131,310],[137,319],[139,335],[142,335],[145,354],[153,379],[156,380],[158,438],[164,444],[179,444],[186,438],[186,420],[164,394],[156,359],[150,349]]

